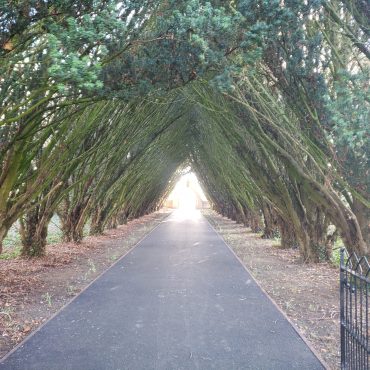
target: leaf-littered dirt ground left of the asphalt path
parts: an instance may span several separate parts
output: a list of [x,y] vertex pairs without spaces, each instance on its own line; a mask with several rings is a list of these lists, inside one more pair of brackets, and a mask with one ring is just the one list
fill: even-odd
[[87,237],[48,245],[46,256],[0,260],[0,358],[128,252],[170,212],[162,210]]

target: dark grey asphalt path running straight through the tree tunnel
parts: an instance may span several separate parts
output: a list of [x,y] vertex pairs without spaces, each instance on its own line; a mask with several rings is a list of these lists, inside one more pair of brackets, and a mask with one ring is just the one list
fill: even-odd
[[178,211],[0,364],[1,370],[322,368],[205,218]]

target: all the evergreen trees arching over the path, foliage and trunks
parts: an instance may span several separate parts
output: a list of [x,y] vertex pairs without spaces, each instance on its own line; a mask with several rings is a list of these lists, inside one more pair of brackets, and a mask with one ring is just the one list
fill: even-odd
[[[181,169],[304,260],[370,242],[370,8],[336,1],[23,1],[0,11],[0,246],[157,209]],[[262,217],[262,218],[261,218]],[[263,220],[264,224],[261,224]],[[336,227],[328,235],[328,226]],[[1,250],[1,248],[0,248]]]

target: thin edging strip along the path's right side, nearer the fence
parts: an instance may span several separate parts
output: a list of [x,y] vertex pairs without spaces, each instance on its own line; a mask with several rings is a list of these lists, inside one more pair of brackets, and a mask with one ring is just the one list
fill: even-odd
[[263,294],[270,300],[270,302],[277,308],[277,310],[284,316],[284,318],[289,322],[289,324],[293,327],[295,332],[298,334],[298,336],[303,340],[303,342],[307,345],[309,350],[317,357],[317,359],[321,362],[322,366],[326,370],[333,370],[321,357],[321,354],[317,352],[315,348],[313,348],[311,342],[301,333],[299,328],[294,324],[294,322],[288,317],[288,315],[280,308],[280,306],[270,297],[270,295],[267,293],[267,291],[261,286],[261,284],[256,280],[253,273],[248,269],[247,266],[243,263],[243,261],[239,258],[239,256],[234,252],[234,250],[227,244],[226,240],[223,238],[221,234],[213,227],[213,225],[209,222],[208,217],[203,214],[203,217],[207,220],[209,226],[212,228],[212,230],[218,235],[218,237],[222,240],[222,242],[226,245],[226,247],[230,250],[230,252],[234,255],[234,257],[239,261],[239,263],[242,265],[244,270],[248,272],[248,274],[251,276],[253,281],[257,284],[257,286],[261,289]]

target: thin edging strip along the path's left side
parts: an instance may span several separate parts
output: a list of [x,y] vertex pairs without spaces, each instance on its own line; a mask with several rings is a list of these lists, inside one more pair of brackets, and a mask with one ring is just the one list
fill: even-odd
[[[36,330],[34,330],[31,334],[29,334],[26,338],[24,338],[21,342],[19,342],[14,348],[12,348],[4,357],[0,358],[0,367],[4,362],[10,357],[15,351],[17,351],[20,347],[22,347],[29,339],[31,339],[38,331],[40,331],[49,321],[53,320],[57,315],[61,313],[67,306],[69,306],[75,299],[77,299],[82,293],[84,293],[91,285],[93,285],[98,279],[100,279],[108,270],[110,270],[113,266],[118,264],[122,259],[124,259],[129,253],[131,253],[136,247],[139,246],[141,242],[143,242],[149,235],[151,235],[168,217],[170,217],[172,212],[163,217],[163,219],[158,223],[158,225],[154,226],[152,230],[150,230],[147,234],[145,234],[137,243],[135,243],[126,253],[124,253],[120,258],[114,261],[107,269],[102,271],[95,279],[90,281],[76,296],[74,296],[69,302],[65,303],[62,307],[60,307],[56,312],[54,312],[43,324],[38,326]],[[208,220],[207,220],[208,221]]]

